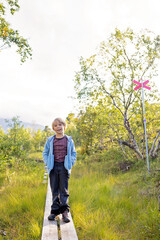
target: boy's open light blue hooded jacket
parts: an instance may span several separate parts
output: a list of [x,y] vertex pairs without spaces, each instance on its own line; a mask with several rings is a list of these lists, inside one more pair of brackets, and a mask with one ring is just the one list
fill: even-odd
[[[48,138],[43,151],[43,160],[45,165],[48,168],[48,173],[53,169],[54,167],[54,155],[53,155],[53,140],[54,136],[51,136]],[[76,161],[76,150],[74,146],[74,142],[72,140],[72,137],[67,136],[67,155],[65,156],[64,161],[64,167],[68,170],[68,173],[71,173],[71,168],[75,164]]]

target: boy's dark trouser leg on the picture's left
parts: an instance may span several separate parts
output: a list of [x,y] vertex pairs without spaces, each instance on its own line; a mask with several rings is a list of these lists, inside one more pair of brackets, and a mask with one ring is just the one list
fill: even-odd
[[50,187],[52,192],[52,205],[51,205],[51,213],[59,214],[60,209],[60,201],[59,201],[59,174],[58,169],[55,164],[54,168],[50,172]]

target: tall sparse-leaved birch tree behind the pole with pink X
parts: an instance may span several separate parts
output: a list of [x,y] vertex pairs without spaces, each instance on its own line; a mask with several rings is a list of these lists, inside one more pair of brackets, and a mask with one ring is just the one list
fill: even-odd
[[[133,80],[151,80],[156,76],[159,59],[160,37],[148,30],[137,34],[129,28],[123,32],[115,29],[94,55],[87,59],[81,57],[75,91],[83,105],[77,126],[81,124],[86,151],[89,144],[94,146],[93,139],[102,142],[109,137],[112,142],[119,143],[124,155],[127,146],[137,158],[145,158],[141,90],[134,91]],[[148,106],[159,100],[153,81],[150,86],[152,91],[145,92]],[[151,116],[149,109],[146,114]],[[151,131],[155,136],[158,125]],[[101,132],[102,138],[99,137]],[[153,143],[154,138],[151,139]],[[153,155],[156,156],[152,151]]]

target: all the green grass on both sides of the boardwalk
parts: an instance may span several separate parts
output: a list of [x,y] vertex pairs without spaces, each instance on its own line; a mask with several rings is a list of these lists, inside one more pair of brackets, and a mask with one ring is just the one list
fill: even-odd
[[[47,185],[40,154],[0,174],[0,240],[41,239]],[[70,205],[80,240],[160,239],[159,159],[150,166],[148,174],[146,162],[124,161],[116,150],[78,156]]]

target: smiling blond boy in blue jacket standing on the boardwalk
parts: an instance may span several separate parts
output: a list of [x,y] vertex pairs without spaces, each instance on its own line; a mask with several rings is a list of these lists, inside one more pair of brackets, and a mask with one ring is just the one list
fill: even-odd
[[62,213],[62,219],[67,223],[70,222],[68,181],[76,160],[76,151],[72,137],[64,134],[65,121],[56,118],[52,128],[55,135],[48,138],[43,151],[43,160],[48,167],[52,191],[51,213],[48,220],[55,220],[55,217]]

